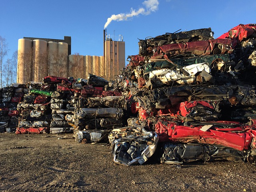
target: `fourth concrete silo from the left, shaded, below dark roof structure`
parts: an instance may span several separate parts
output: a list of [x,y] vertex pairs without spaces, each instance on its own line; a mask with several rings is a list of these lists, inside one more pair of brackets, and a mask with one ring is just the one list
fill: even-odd
[[58,65],[57,76],[68,77],[68,44],[58,43]]

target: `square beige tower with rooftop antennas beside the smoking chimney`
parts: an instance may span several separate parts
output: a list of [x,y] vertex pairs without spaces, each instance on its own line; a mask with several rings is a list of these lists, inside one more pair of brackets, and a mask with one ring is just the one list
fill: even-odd
[[120,74],[120,70],[125,68],[125,42],[121,35],[118,41],[113,41],[104,30],[104,58],[104,78],[114,80]]

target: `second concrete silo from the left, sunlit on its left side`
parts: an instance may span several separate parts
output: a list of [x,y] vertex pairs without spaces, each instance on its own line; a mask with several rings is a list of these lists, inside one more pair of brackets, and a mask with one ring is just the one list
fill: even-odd
[[48,74],[48,42],[33,40],[34,81],[42,82]]

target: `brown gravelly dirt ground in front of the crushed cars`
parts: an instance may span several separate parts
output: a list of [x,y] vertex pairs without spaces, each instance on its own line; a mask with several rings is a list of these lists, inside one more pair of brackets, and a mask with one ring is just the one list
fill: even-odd
[[[60,138],[60,139],[58,139]],[[196,162],[122,166],[110,146],[80,144],[72,134],[0,134],[1,191],[248,191],[256,166]]]

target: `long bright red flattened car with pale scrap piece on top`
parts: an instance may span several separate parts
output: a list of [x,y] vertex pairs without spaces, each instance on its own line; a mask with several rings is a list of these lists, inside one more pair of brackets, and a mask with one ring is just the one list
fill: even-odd
[[255,124],[228,121],[194,122],[188,126],[163,118],[154,124],[154,130],[162,141],[215,144],[240,151],[250,150],[256,137]]

